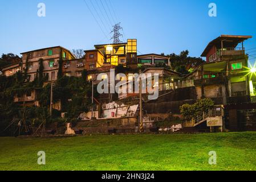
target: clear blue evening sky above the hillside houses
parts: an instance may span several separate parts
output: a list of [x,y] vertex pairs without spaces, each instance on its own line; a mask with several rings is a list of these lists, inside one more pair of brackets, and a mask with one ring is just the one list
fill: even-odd
[[[37,15],[40,2],[46,5],[44,18]],[[217,5],[216,18],[208,15],[211,2]],[[255,11],[255,0],[1,1],[0,53],[19,55],[52,46],[92,49],[94,44],[111,42],[109,31],[114,20],[121,22],[125,39],[137,39],[139,53],[179,53],[188,49],[191,56],[200,56],[210,40],[221,34],[252,35],[253,39],[245,42],[246,49],[251,49],[256,48]],[[250,51],[255,51],[251,55],[256,54],[256,49]]]

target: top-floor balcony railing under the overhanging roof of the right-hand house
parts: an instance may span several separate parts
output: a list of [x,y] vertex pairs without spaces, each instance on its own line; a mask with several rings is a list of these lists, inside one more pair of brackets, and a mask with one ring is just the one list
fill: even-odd
[[218,61],[220,60],[220,57],[224,55],[245,55],[245,49],[244,48],[223,48],[218,50],[212,56],[210,56],[209,61],[210,62]]

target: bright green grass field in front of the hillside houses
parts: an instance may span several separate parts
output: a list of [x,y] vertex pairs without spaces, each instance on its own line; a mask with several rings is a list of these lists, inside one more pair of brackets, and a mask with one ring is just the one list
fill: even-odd
[[[46,165],[37,152],[46,152]],[[208,163],[217,152],[217,165]],[[0,138],[1,170],[256,170],[256,133]]]

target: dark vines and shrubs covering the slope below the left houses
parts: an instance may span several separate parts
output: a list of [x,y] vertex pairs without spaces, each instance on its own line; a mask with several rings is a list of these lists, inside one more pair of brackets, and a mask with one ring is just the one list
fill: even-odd
[[[65,122],[60,119],[61,112],[67,113],[68,120],[76,119],[80,113],[88,111],[91,106],[91,83],[86,79],[86,70],[82,72],[82,77],[59,75],[53,86],[53,102],[60,102],[62,109],[53,110],[50,118],[51,85],[43,84],[48,78],[43,76],[42,61],[42,59],[39,60],[39,69],[32,82],[27,81],[26,69],[10,77],[0,76],[0,135],[16,135],[20,121],[26,121],[29,127],[38,127],[43,121],[46,121],[46,124],[56,121]],[[22,103],[14,102],[15,96],[23,97],[32,90],[36,92],[40,107],[27,107]]]

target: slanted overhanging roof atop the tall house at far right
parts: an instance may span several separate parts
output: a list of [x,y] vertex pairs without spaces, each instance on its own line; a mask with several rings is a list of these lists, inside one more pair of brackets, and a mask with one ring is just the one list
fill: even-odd
[[252,36],[243,36],[243,35],[221,35],[218,38],[212,40],[205,48],[204,52],[202,52],[201,57],[206,57],[207,53],[213,46],[216,46],[217,49],[221,48],[221,42],[225,48],[235,48],[237,45],[247,39],[252,38]]

